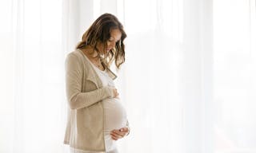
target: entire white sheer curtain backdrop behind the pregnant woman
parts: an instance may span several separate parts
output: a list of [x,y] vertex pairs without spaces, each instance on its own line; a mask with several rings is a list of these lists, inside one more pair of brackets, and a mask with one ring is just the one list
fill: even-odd
[[105,12],[128,34],[120,152],[256,152],[255,11],[255,0],[0,1],[0,152],[68,152],[64,60]]

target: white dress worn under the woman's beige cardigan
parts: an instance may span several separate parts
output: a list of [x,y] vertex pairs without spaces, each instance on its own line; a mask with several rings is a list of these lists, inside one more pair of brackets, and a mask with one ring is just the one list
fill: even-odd
[[[86,56],[85,56],[86,57]],[[90,61],[87,57],[86,59]],[[102,71],[90,62],[98,74],[98,77],[102,80],[102,86],[114,87],[114,81],[110,78],[106,69]],[[116,141],[111,138],[110,131],[117,130],[126,126],[126,110],[122,106],[120,99],[118,98],[107,98],[102,100],[104,108],[104,139],[107,153],[118,153],[116,147]],[[71,148],[71,152],[74,153],[102,153],[102,151],[81,151],[78,149]]]

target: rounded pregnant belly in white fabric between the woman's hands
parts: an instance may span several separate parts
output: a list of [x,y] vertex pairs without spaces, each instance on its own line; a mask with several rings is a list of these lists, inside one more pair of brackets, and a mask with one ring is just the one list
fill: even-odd
[[103,108],[106,131],[112,131],[126,126],[126,110],[119,99],[109,98],[103,100]]

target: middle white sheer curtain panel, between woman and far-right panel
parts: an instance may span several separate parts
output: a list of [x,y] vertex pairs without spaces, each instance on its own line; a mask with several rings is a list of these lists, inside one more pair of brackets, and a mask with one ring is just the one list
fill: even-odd
[[125,6],[127,152],[213,152],[212,1]]

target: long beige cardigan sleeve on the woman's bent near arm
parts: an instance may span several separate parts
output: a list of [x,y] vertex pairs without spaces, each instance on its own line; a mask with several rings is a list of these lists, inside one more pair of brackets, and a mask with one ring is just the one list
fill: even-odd
[[82,62],[70,53],[66,57],[66,96],[71,109],[86,108],[100,100],[113,97],[111,87],[102,87],[90,92],[82,92]]

